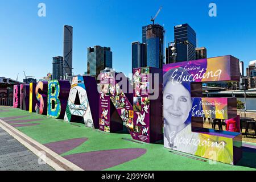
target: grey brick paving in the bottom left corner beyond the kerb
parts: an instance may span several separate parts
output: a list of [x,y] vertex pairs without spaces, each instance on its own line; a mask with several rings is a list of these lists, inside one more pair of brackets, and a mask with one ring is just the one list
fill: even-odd
[[53,171],[38,156],[0,127],[0,171]]

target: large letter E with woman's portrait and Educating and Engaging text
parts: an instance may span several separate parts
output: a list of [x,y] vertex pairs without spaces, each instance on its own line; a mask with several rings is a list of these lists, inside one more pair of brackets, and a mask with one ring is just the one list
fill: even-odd
[[239,60],[220,56],[166,64],[163,73],[164,147],[236,164],[242,156],[242,135],[202,126],[202,118],[235,117],[236,98],[202,98],[192,83],[238,81]]

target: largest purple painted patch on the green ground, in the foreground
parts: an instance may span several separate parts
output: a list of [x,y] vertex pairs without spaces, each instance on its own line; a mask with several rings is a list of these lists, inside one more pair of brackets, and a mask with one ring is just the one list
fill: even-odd
[[122,148],[71,154],[64,156],[64,158],[84,170],[98,171],[137,159],[146,154],[146,151],[144,148]]

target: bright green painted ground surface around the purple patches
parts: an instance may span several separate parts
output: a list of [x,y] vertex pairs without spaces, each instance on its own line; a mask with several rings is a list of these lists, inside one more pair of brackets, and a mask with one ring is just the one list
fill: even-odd
[[40,123],[40,125],[18,127],[19,131],[35,139],[39,143],[45,144],[81,137],[88,138],[88,140],[82,143],[79,147],[62,154],[63,156],[81,152],[112,150],[119,148],[145,148],[147,150],[146,154],[137,159],[130,160],[129,162],[119,164],[118,166],[114,166],[106,170],[256,170],[256,153],[252,152],[243,152],[243,158],[237,166],[218,162],[216,164],[209,164],[207,159],[205,159],[207,162],[203,162],[186,156],[174,154],[167,148],[164,148],[163,144],[136,143],[122,139],[132,139],[130,134],[103,133],[99,130],[87,128],[80,123],[68,123],[64,122],[62,119],[48,118],[46,115],[29,113],[28,111],[13,109],[11,107],[8,108],[0,106],[0,110],[1,109],[9,111],[0,112],[0,118],[16,115],[28,115],[28,117],[22,119],[42,119],[42,121],[29,122]]

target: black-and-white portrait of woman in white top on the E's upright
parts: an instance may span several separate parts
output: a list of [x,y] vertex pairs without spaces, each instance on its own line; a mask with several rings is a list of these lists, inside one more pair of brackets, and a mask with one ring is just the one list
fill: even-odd
[[188,144],[191,139],[199,139],[191,131],[191,83],[177,81],[179,76],[189,73],[184,68],[173,68],[163,76],[163,110],[164,110],[164,147],[188,153],[195,153],[197,146]]

